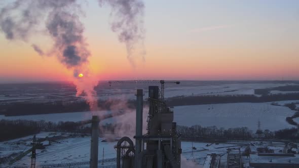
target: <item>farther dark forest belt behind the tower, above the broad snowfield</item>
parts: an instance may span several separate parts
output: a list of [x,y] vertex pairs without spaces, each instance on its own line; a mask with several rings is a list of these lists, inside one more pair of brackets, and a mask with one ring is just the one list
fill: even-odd
[[[254,95],[207,95],[207,96],[177,96],[168,98],[166,103],[168,106],[185,106],[200,104],[217,104],[217,103],[262,103],[284,100],[298,100],[299,93],[263,95],[260,97]],[[123,103],[123,100],[99,100],[98,107],[102,110],[110,110],[115,104]],[[135,109],[135,100],[128,100],[127,108]],[[148,102],[145,101],[146,105]],[[51,102],[51,103],[11,103],[0,105],[0,114],[6,116],[16,115],[32,115],[32,114],[49,114],[49,113],[65,113],[89,111],[86,102]],[[122,109],[120,109],[122,110]]]

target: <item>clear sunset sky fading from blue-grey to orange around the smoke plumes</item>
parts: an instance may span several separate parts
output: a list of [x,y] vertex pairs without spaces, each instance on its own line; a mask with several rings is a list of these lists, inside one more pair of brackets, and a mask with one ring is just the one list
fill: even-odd
[[[144,60],[135,66],[111,31],[109,7],[83,4],[90,69],[99,80],[299,80],[299,1],[145,0]],[[0,4],[1,5],[1,4]],[[0,82],[64,81],[72,72],[57,57],[39,56],[0,33]]]

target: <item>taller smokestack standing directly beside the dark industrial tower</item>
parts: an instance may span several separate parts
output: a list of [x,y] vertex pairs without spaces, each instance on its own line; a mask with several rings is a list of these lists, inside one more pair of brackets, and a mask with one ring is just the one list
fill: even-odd
[[143,90],[137,89],[136,94],[136,141],[135,141],[135,167],[141,168],[141,158],[138,158],[141,153],[142,145],[142,112],[143,112]]

